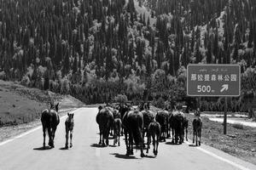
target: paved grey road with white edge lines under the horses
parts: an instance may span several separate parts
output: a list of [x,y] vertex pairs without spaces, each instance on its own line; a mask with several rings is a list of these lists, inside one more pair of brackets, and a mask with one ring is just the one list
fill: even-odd
[[[228,156],[204,144],[192,147],[188,143],[172,145],[171,139],[160,143],[159,155],[154,157],[152,149],[148,156],[141,158],[140,151],[134,156],[125,156],[125,142],[119,147],[98,147],[98,126],[96,108],[80,108],[74,112],[73,148],[63,150],[65,145],[65,117],[55,135],[55,148],[42,150],[42,127],[30,133],[0,144],[0,170],[79,170],[79,169],[196,169],[236,170],[256,169],[253,164]],[[113,144],[113,139],[110,140]]]

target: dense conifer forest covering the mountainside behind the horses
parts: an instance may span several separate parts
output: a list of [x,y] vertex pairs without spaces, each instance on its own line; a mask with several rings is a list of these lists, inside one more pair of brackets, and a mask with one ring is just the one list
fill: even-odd
[[[186,96],[188,64],[241,65],[247,111],[256,95],[255,0],[1,0],[0,79],[71,94],[86,104]],[[223,98],[202,98],[223,111]]]

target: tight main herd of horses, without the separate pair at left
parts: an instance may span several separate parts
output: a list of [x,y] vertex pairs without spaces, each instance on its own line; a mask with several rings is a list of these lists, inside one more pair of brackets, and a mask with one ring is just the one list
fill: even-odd
[[[149,105],[139,105],[134,108],[130,104],[99,106],[96,122],[99,125],[101,146],[108,146],[108,138],[113,133],[113,144],[119,144],[120,135],[125,134],[126,156],[133,155],[134,144],[141,150],[141,156],[145,156],[144,137],[147,137],[147,153],[152,144],[154,156],[158,154],[160,141],[166,141],[171,137],[172,144],[182,144],[184,138],[188,140],[189,121],[178,105],[173,111],[150,111]],[[193,143],[201,145],[202,120],[198,111],[195,112],[193,125]],[[186,134],[186,135],[185,135]]]

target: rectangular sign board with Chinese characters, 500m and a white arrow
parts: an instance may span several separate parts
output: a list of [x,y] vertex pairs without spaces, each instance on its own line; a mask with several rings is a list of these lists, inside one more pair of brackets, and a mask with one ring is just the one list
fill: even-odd
[[188,65],[189,96],[239,96],[240,65]]

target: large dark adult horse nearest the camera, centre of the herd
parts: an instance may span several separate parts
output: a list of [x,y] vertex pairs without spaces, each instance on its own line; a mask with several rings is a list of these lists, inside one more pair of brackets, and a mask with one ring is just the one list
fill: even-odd
[[[128,111],[123,117],[125,132],[126,156],[133,155],[133,140],[136,145],[140,145],[141,157],[143,153],[143,114],[140,111]],[[129,133],[129,142],[127,139]]]

